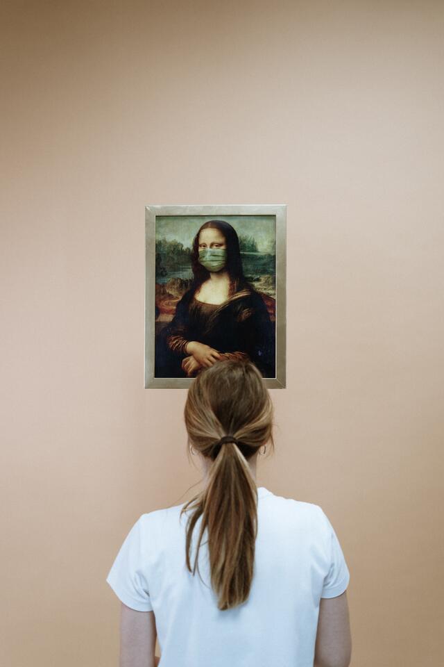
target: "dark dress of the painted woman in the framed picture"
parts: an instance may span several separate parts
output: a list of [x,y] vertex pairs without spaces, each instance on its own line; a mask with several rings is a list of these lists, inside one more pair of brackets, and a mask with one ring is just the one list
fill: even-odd
[[181,368],[185,346],[197,340],[225,354],[248,357],[263,377],[275,377],[275,325],[261,295],[242,289],[223,302],[205,304],[189,289],[155,341],[155,377],[187,377]]

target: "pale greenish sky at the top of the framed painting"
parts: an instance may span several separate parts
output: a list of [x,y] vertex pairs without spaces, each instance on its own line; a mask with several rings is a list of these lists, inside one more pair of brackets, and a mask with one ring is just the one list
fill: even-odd
[[155,238],[166,238],[191,248],[194,236],[207,220],[225,220],[238,236],[254,236],[259,252],[274,252],[275,215],[156,215]]

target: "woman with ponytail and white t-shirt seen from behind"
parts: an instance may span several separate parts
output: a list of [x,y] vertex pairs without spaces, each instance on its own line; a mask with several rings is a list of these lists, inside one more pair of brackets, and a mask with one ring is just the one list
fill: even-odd
[[202,491],[142,514],[108,574],[122,602],[121,667],[348,667],[350,574],[330,521],[256,484],[257,454],[274,450],[256,366],[200,372],[185,426]]

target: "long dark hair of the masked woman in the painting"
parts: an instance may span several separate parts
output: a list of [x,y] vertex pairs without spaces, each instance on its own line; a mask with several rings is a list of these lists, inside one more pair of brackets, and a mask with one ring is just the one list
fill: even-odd
[[253,286],[246,281],[244,269],[242,268],[241,252],[239,249],[239,237],[237,232],[229,222],[225,220],[207,220],[200,225],[196,236],[193,239],[191,247],[191,269],[193,270],[194,281],[193,288],[196,290],[205,280],[210,277],[210,272],[205,266],[199,263],[199,234],[203,229],[219,229],[225,237],[227,246],[226,270],[230,276],[230,292],[232,295],[238,290],[247,288],[254,290]]

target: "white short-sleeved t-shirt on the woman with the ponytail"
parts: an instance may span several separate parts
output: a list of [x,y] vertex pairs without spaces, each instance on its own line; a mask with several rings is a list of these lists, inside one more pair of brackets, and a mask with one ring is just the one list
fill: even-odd
[[160,667],[313,667],[319,600],[341,595],[350,573],[321,507],[257,492],[253,582],[234,609],[217,608],[206,530],[187,569],[182,505],[142,514],[123,541],[106,581],[127,607],[154,611]]

